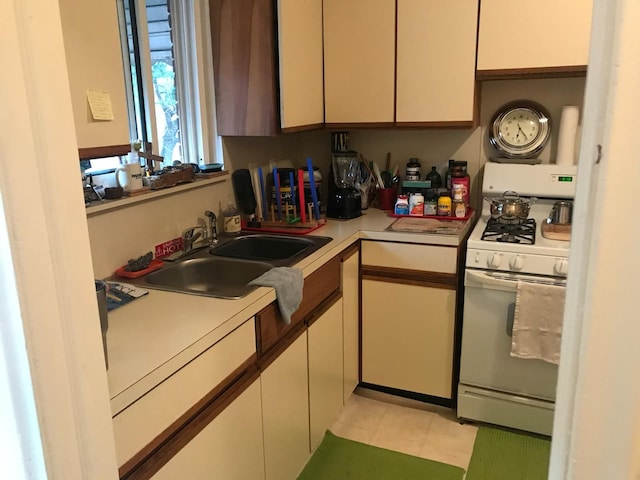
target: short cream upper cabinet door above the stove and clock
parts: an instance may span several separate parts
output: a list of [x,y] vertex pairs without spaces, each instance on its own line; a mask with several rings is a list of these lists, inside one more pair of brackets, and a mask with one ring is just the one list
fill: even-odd
[[587,65],[592,0],[482,0],[478,70]]

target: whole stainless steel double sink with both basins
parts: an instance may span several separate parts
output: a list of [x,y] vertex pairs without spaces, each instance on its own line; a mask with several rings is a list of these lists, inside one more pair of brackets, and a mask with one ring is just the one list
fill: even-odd
[[126,282],[141,287],[217,298],[241,298],[247,284],[275,266],[291,266],[322,248],[329,237],[252,234],[223,239],[182,260]]

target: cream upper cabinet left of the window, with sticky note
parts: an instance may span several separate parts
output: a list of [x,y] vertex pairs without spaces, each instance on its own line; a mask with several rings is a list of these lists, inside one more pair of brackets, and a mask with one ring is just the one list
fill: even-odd
[[[129,117],[116,2],[60,0],[60,17],[78,147],[129,150]],[[113,120],[91,115],[87,92],[111,102]]]

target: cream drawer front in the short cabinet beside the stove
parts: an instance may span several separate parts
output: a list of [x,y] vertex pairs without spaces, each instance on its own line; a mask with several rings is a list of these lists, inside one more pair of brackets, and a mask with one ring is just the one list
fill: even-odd
[[362,241],[362,265],[456,273],[458,249],[411,243]]

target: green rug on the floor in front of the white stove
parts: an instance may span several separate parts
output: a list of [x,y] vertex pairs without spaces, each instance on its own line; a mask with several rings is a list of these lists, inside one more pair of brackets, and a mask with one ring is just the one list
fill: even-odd
[[465,480],[546,480],[551,442],[480,427]]

